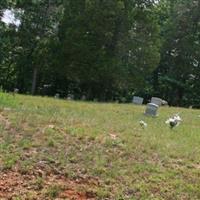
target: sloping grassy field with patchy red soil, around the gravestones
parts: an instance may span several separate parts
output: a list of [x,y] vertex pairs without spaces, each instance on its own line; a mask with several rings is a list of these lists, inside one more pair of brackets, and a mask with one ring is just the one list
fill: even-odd
[[200,110],[144,109],[0,93],[0,199],[200,199]]

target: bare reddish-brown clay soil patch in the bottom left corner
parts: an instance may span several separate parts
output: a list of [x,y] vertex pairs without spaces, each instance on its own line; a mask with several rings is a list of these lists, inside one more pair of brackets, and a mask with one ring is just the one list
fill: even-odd
[[[48,175],[43,177],[44,184],[42,189],[38,189],[35,184],[37,176],[22,175],[19,172],[7,171],[0,172],[0,199],[12,200],[16,197],[21,199],[42,200],[50,199],[46,194],[47,189],[52,185],[57,185],[62,188],[62,191],[56,199],[69,200],[94,200],[95,194],[87,192],[90,187],[95,187],[93,183],[88,184],[88,180],[69,180],[61,175]],[[80,188],[81,191],[80,191]],[[85,189],[85,190],[84,190]]]

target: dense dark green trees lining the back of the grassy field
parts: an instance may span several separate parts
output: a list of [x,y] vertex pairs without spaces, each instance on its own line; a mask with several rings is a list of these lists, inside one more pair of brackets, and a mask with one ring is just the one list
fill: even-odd
[[5,0],[0,86],[88,100],[200,106],[198,0]]

